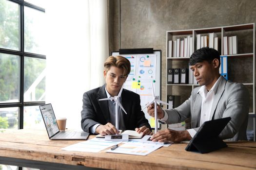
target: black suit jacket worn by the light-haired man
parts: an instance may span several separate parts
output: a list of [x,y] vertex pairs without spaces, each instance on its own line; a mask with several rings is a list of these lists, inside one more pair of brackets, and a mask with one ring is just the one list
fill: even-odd
[[[97,123],[105,125],[110,122],[110,113],[107,101],[98,101],[107,98],[105,85],[87,91],[83,94],[83,106],[81,111],[81,128],[90,133],[89,128]],[[123,89],[122,106],[127,112],[123,113],[125,130],[135,130],[142,126],[151,129],[144,112],[141,111],[140,98],[137,93]]]

